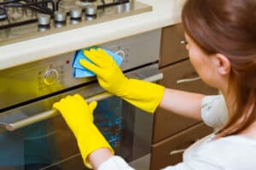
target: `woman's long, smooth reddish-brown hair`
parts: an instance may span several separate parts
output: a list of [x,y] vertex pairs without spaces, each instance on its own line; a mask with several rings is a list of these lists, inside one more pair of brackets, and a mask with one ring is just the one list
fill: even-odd
[[219,137],[240,133],[256,120],[256,1],[188,0],[183,27],[207,54],[224,54],[231,65],[234,111]]

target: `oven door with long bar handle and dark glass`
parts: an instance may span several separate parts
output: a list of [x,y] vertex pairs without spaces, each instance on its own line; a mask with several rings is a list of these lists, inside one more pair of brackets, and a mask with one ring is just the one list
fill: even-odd
[[[158,64],[131,71],[126,76],[148,82],[162,78]],[[98,101],[95,123],[116,155],[130,162],[150,152],[153,116],[92,82],[2,112],[0,169],[85,169],[73,133],[62,116],[51,109],[54,102],[69,94],[81,94],[87,102]]]

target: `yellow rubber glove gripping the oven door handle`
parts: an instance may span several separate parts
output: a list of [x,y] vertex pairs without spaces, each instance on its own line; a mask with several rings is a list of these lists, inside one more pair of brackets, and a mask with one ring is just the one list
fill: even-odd
[[54,109],[61,112],[68,127],[73,131],[84,160],[84,165],[89,168],[92,167],[88,161],[88,156],[94,150],[108,148],[113,153],[112,147],[93,123],[92,114],[96,104],[96,101],[94,101],[87,105],[79,94],[75,94],[67,96],[53,105]]

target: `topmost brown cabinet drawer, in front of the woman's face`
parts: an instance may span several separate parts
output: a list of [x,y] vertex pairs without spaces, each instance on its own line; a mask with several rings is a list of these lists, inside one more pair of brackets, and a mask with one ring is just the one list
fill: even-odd
[[184,32],[182,26],[167,26],[162,29],[161,48],[160,48],[160,68],[165,65],[170,65],[181,59],[188,58],[188,52],[183,41]]

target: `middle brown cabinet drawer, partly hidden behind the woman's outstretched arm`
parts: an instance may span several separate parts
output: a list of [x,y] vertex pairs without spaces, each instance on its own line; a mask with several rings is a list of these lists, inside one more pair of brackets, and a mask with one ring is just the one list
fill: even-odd
[[[164,78],[160,80],[160,84],[164,85],[166,88],[176,88],[201,94],[218,94],[217,89],[210,88],[201,80],[177,83],[178,80],[197,77],[189,60],[165,67],[161,69],[161,71],[164,74]],[[185,128],[191,127],[195,123],[198,122],[183,116],[177,116],[170,111],[157,109],[154,114],[153,144],[162,139],[166,139],[172,134],[180,132]]]

